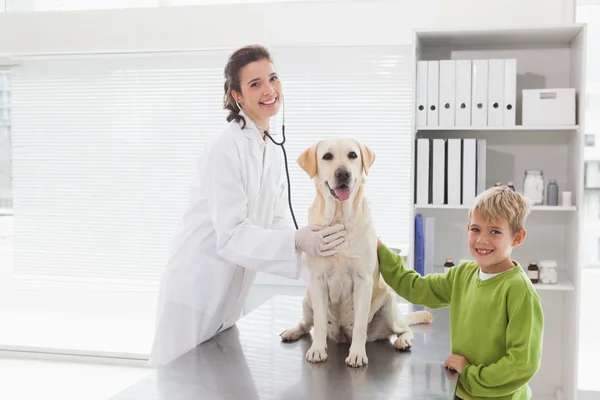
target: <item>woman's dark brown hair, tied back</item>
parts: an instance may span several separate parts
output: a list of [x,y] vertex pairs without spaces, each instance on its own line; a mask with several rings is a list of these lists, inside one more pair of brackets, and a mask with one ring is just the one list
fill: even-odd
[[246,120],[240,115],[240,109],[237,107],[231,91],[235,90],[241,93],[240,75],[242,68],[252,62],[263,59],[273,61],[269,51],[260,45],[242,47],[229,56],[229,60],[227,60],[227,65],[225,66],[225,95],[223,97],[223,109],[229,110],[227,122],[241,121],[242,128],[246,127]]

